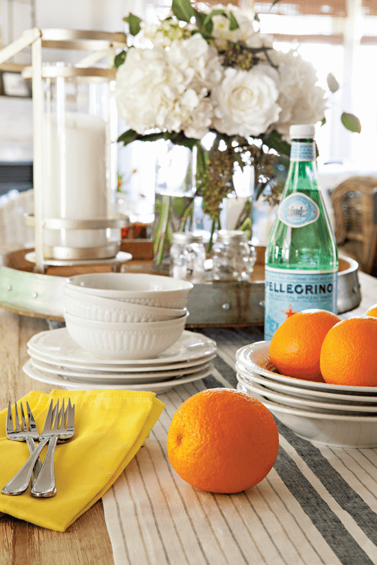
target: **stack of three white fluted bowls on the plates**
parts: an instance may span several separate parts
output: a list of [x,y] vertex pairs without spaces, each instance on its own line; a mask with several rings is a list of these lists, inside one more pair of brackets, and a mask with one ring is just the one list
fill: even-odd
[[64,287],[66,329],[100,359],[153,359],[182,336],[192,288],[161,275],[75,275]]

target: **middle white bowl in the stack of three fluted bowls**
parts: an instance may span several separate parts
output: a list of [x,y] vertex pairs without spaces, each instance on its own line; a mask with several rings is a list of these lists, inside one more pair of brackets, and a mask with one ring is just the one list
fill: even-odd
[[160,308],[77,292],[64,287],[64,310],[67,314],[101,322],[158,322],[180,318],[186,308]]

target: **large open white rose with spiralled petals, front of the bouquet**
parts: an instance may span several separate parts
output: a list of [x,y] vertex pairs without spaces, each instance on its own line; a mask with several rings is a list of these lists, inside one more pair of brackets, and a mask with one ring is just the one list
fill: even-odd
[[271,77],[254,69],[228,67],[212,90],[213,126],[228,136],[259,136],[279,117],[278,88]]

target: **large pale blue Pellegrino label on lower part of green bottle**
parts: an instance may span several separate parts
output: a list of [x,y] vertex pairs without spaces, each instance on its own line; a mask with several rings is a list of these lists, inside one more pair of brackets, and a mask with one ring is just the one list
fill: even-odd
[[265,267],[265,340],[289,316],[309,308],[337,312],[337,271]]

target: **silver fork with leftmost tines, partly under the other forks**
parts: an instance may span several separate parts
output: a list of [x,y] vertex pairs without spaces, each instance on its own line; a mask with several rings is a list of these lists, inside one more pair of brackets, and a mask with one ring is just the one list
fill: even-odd
[[[36,449],[36,444],[34,443],[34,440],[38,440],[39,438],[38,429],[36,427],[32,410],[29,407],[29,403],[26,401],[28,424],[26,424],[25,412],[23,410],[22,402],[20,403],[20,408],[21,408],[21,426],[20,426],[19,410],[17,409],[17,403],[16,402],[14,403],[14,421],[12,416],[12,405],[11,403],[8,404],[7,423],[6,423],[7,438],[8,440],[14,440],[18,442],[26,441],[30,453],[33,453],[34,449]],[[34,484],[34,481],[36,480],[36,477],[40,473],[41,468],[42,468],[42,462],[38,457],[33,469],[32,484]]]

